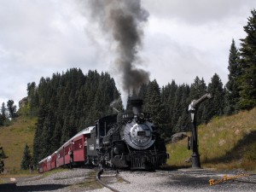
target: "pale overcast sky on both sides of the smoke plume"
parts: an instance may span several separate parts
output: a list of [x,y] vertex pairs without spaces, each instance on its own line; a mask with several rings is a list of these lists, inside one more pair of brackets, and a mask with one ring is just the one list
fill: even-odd
[[[83,0],[80,0],[83,1]],[[92,0],[91,0],[92,1]],[[255,0],[142,0],[148,10],[138,53],[150,79],[225,84],[232,38],[240,47]],[[26,85],[80,67],[113,73],[113,43],[86,18],[79,0],[0,0],[0,103],[18,102]]]

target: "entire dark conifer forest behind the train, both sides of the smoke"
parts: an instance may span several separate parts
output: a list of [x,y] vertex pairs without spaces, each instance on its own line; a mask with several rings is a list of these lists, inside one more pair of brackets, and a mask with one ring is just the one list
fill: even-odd
[[[229,76],[223,84],[218,74],[206,84],[195,77],[192,84],[176,84],[175,80],[160,88],[154,79],[143,84],[137,95],[143,98],[144,111],[152,114],[162,137],[171,137],[178,131],[189,131],[189,103],[205,93],[213,95],[197,110],[197,123],[207,123],[213,117],[249,110],[256,105],[256,11],[252,10],[247,26],[247,37],[241,39],[241,48],[232,40],[229,55]],[[96,119],[115,113],[110,103],[120,101],[119,90],[108,73],[72,68],[67,73],[54,73],[42,78],[38,85],[27,84],[27,103],[20,112],[38,117],[33,144],[33,162],[53,153]],[[122,110],[122,103],[117,103]]]

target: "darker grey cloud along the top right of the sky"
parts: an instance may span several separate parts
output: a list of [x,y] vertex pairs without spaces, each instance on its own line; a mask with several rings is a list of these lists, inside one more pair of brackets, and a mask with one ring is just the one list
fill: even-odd
[[254,0],[143,0],[151,15],[177,19],[189,25],[219,22],[227,17],[242,16],[246,9],[253,9]]

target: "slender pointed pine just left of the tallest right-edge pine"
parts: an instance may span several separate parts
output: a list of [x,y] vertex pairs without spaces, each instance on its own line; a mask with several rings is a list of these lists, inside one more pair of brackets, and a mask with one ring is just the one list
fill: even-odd
[[230,57],[229,57],[229,81],[226,84],[225,90],[225,114],[237,113],[239,110],[238,102],[240,99],[239,95],[239,84],[237,82],[241,69],[239,67],[239,52],[236,49],[234,39],[230,46]]

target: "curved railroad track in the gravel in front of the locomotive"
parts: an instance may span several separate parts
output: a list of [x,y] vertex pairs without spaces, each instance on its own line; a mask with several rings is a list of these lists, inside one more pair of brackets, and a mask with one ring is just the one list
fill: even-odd
[[120,192],[118,189],[114,189],[113,187],[110,187],[108,185],[108,183],[113,183],[113,182],[125,182],[125,183],[130,183],[128,180],[126,180],[125,178],[123,177],[120,177],[119,176],[119,171],[117,170],[116,172],[113,173],[112,172],[106,172],[104,173],[104,170],[103,169],[100,169],[99,172],[97,172],[96,174],[96,180],[98,183],[102,184],[102,186],[108,188],[108,189],[111,189],[112,191],[114,192]]

